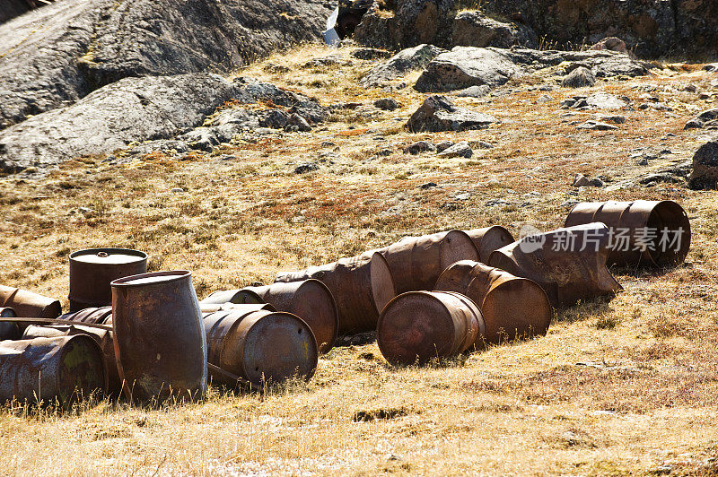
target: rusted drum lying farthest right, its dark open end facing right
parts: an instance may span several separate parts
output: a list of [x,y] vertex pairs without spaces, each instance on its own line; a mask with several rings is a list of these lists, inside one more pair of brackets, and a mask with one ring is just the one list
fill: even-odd
[[611,230],[609,265],[679,265],[690,250],[690,221],[673,201],[576,204],[565,227],[590,222],[603,222]]

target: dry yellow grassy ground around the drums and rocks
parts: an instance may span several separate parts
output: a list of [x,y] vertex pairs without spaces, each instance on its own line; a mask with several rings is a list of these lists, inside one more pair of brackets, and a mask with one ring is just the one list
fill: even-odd
[[[501,124],[410,134],[403,126],[426,96],[364,89],[358,79],[375,61],[351,50],[311,66],[336,51],[296,48],[237,73],[325,106],[360,103],[334,109],[310,133],[248,133],[212,153],[156,152],[119,165],[83,157],[45,178],[0,178],[0,283],[66,306],[71,251],[133,247],[151,256],[152,270],[191,270],[202,298],[405,235],[493,224],[515,235],[525,224],[552,230],[572,201],[609,199],[679,202],[693,230],[686,264],[612,270],[625,291],[559,313],[546,337],[425,368],[392,368],[369,343],[333,349],[310,382],[267,395],[213,389],[205,402],[156,409],[5,405],[3,473],[718,474],[718,195],[617,186],[691,159],[706,133],[683,126],[715,107],[718,75],[657,64],[648,76],[579,90],[530,76],[500,96],[455,99]],[[538,89],[546,84],[553,91]],[[595,91],[625,95],[631,107],[574,116],[559,107]],[[638,108],[654,101],[646,93],[671,110]],[[385,97],[401,107],[372,106]],[[596,112],[626,123],[576,129]],[[477,146],[470,159],[402,152],[419,139]],[[294,172],[308,162],[319,169]],[[577,173],[606,187],[576,189]],[[437,186],[421,187],[430,182]]]

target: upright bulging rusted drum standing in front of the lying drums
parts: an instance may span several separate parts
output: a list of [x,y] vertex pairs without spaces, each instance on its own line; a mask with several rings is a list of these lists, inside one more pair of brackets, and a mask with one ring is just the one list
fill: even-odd
[[206,335],[191,273],[144,273],[111,285],[115,355],[127,398],[204,396]]

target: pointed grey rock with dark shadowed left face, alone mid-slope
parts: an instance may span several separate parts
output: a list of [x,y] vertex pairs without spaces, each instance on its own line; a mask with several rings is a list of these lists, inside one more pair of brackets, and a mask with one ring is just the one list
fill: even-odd
[[409,118],[407,127],[414,133],[466,131],[482,129],[498,119],[485,113],[459,108],[443,96],[430,96]]

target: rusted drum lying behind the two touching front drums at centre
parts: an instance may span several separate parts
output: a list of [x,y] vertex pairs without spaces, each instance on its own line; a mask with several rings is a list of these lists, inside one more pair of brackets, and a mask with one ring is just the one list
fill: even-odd
[[478,260],[478,250],[466,232],[406,237],[377,250],[387,259],[397,293],[433,290],[439,275],[460,260]]

